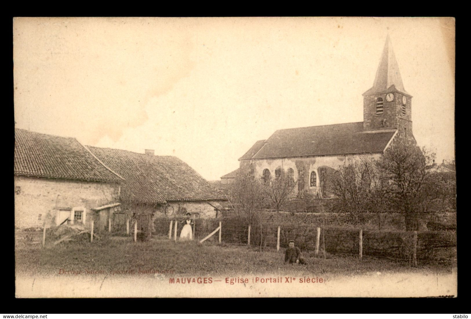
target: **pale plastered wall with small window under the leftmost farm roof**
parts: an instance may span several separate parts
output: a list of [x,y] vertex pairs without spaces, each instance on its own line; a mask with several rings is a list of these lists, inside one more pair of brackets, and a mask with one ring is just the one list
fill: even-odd
[[[59,208],[83,210],[85,223],[91,208],[117,201],[119,185],[15,176],[15,227],[42,227],[56,224]],[[41,215],[41,217],[39,216]],[[62,212],[62,215],[63,212]],[[73,217],[73,215],[72,215]]]

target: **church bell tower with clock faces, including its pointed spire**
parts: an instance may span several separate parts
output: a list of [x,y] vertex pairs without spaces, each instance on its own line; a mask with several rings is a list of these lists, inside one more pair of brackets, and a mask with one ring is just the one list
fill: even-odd
[[388,35],[373,87],[363,93],[363,129],[397,129],[400,138],[413,138],[411,99],[402,84]]

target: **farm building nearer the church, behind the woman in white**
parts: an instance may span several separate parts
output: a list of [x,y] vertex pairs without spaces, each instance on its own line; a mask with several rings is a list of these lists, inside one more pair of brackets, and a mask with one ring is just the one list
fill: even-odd
[[214,218],[226,197],[175,156],[156,156],[87,146],[107,167],[121,175],[122,209],[138,215]]

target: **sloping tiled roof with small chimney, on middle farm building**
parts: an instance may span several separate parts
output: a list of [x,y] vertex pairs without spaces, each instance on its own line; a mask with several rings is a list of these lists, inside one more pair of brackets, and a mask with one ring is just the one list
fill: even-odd
[[142,203],[224,200],[201,175],[175,156],[154,156],[87,146],[106,166],[122,175],[121,197]]

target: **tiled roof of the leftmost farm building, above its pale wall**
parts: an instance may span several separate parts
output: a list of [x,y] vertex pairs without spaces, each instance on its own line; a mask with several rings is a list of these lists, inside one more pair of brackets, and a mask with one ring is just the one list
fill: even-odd
[[15,175],[96,182],[122,181],[75,138],[20,128],[15,128],[14,167]]

